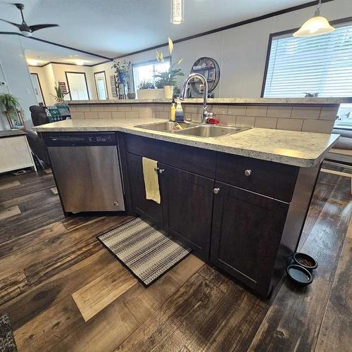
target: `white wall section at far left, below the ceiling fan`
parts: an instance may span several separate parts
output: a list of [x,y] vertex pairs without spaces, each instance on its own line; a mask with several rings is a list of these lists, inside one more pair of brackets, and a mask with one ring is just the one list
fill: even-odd
[[[20,101],[26,125],[32,125],[30,106],[37,105],[37,99],[18,35],[0,34],[0,62],[8,92]],[[8,128],[7,124],[4,127]]]

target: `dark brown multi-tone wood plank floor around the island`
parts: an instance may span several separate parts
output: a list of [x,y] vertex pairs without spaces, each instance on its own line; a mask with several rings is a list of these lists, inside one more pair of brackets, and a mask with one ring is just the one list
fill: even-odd
[[314,282],[284,279],[270,301],[192,255],[145,289],[96,239],[131,218],[65,218],[50,170],[0,175],[0,313],[18,350],[351,350],[351,178],[324,168],[299,246]]

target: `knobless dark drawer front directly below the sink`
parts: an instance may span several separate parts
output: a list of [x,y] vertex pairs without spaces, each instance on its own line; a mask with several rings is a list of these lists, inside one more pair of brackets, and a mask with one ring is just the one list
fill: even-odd
[[125,134],[126,151],[198,175],[215,177],[215,151]]

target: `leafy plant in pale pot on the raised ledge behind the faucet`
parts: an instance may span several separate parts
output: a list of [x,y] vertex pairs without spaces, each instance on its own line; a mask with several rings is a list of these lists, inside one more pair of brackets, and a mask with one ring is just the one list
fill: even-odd
[[[173,50],[173,43],[170,38],[169,38],[168,49],[171,56],[172,50]],[[159,53],[158,51],[156,51],[156,60],[158,60],[158,62],[160,63],[163,63],[164,62],[163,53]],[[167,71],[164,71],[164,72],[157,71],[156,75],[153,76],[154,79],[156,79],[156,82],[157,82],[156,84],[158,84],[160,87],[163,87],[164,98],[166,99],[172,99],[173,89],[177,84],[177,77],[184,76],[184,73],[182,73],[182,69],[177,68],[177,66],[180,65],[182,60],[183,58],[181,58],[179,61],[171,65]]]

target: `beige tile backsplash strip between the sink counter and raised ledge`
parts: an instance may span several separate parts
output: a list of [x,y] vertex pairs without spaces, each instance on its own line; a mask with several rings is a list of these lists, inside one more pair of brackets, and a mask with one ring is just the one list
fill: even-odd
[[[184,104],[186,118],[201,120],[201,104]],[[73,119],[89,118],[168,118],[169,103],[121,103],[70,105]],[[212,104],[220,123],[244,127],[263,127],[277,130],[330,133],[339,105],[273,105],[273,104]]]

